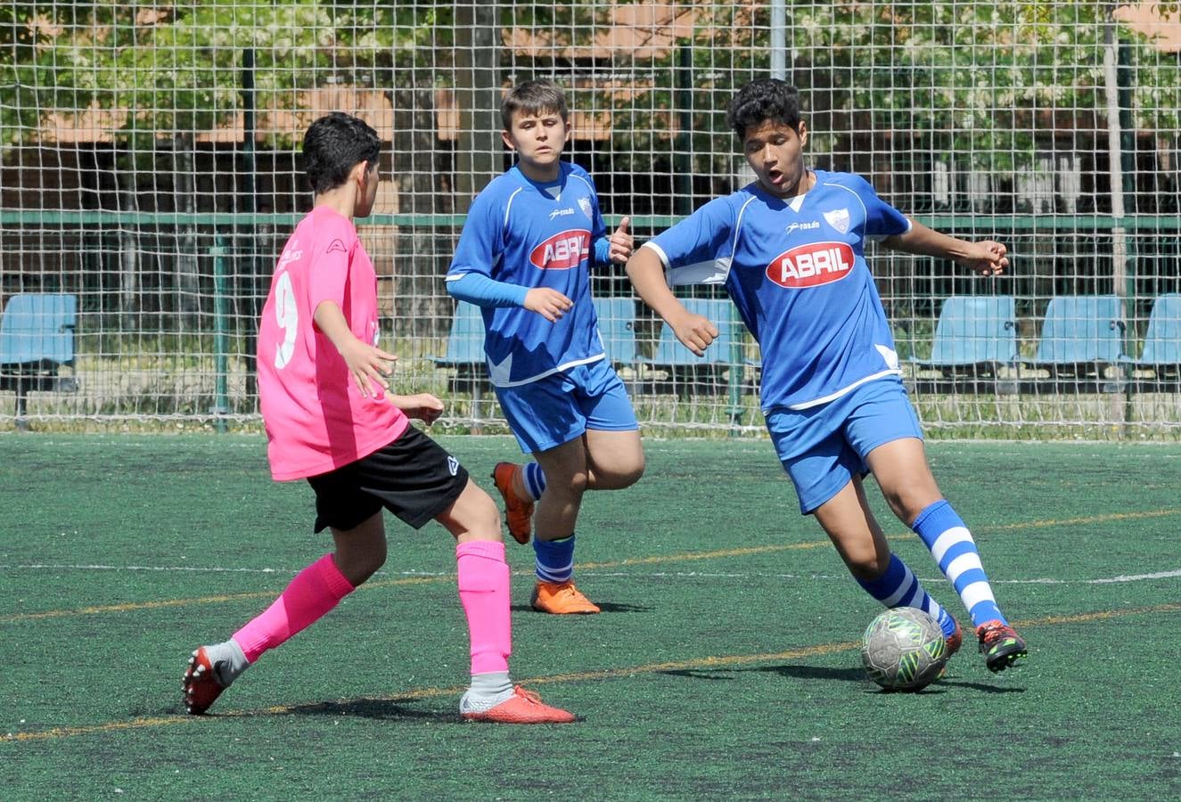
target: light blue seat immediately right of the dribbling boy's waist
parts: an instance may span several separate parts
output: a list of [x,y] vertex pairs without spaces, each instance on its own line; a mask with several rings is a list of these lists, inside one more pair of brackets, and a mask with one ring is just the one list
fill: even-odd
[[1012,295],[953,295],[935,324],[931,358],[912,358],[920,367],[945,376],[981,371],[996,374],[1017,360],[1016,305]]

